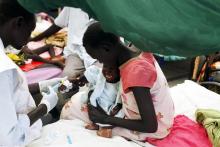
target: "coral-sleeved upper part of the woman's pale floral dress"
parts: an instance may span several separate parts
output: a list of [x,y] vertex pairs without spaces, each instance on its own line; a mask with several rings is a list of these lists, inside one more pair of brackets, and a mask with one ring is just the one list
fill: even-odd
[[[138,106],[131,87],[148,87],[158,119],[156,133],[141,133],[140,138],[164,138],[173,124],[174,104],[166,78],[151,53],[142,53],[120,67],[122,79],[122,102],[128,119],[140,119]],[[129,73],[129,74],[128,74]],[[145,135],[145,136],[144,136]]]

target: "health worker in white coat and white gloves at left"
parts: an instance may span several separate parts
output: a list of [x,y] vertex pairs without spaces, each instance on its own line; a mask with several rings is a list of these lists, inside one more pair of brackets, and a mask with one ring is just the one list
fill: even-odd
[[[33,14],[16,0],[0,0],[0,146],[25,146],[38,138],[42,128],[40,118],[58,101],[57,94],[48,86],[61,79],[42,81],[28,87],[24,73],[5,54],[8,45],[22,48],[34,28]],[[44,90],[46,93],[36,106],[37,100],[31,94]]]

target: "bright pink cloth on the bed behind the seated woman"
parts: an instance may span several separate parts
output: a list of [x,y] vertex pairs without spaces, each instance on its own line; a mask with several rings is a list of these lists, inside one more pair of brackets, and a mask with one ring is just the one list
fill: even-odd
[[146,141],[157,147],[212,147],[205,129],[184,115],[175,117],[167,137]]

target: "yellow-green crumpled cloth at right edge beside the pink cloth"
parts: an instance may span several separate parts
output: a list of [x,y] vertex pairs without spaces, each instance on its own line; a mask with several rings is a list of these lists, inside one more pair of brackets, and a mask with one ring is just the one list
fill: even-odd
[[198,109],[196,120],[207,130],[214,147],[220,146],[220,112],[212,109]]

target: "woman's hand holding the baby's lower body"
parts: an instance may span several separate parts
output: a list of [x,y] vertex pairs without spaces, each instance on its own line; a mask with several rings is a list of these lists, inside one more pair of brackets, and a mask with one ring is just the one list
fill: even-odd
[[88,104],[88,113],[89,113],[89,119],[93,123],[102,123],[106,124],[106,118],[108,115],[106,115],[103,111],[98,110],[96,107]]

